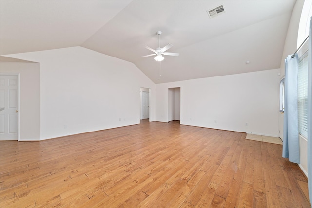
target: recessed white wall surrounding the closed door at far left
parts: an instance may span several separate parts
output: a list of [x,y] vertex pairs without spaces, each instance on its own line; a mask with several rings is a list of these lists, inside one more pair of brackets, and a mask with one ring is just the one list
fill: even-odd
[[20,141],[40,138],[40,64],[0,62],[1,73],[20,74]]

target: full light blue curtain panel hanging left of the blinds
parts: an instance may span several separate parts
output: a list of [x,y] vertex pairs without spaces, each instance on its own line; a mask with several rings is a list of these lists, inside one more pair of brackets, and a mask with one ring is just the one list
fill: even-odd
[[284,131],[283,157],[293,163],[300,163],[299,131],[298,131],[298,55],[289,55],[285,59],[285,92],[284,92]]

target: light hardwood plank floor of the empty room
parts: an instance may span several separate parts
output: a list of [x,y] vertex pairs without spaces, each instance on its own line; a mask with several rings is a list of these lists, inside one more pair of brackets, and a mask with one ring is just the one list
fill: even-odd
[[170,123],[0,142],[0,206],[309,208],[282,146]]

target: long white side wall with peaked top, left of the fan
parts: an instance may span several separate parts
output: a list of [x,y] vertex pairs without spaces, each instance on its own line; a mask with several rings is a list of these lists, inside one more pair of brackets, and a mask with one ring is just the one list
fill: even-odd
[[83,47],[9,57],[40,63],[41,140],[139,124],[141,86],[155,120],[155,84],[130,62]]

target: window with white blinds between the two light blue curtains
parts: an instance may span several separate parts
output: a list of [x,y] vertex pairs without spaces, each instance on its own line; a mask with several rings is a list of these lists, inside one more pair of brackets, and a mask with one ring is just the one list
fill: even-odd
[[308,52],[299,58],[297,96],[299,134],[308,138]]

